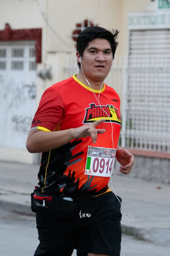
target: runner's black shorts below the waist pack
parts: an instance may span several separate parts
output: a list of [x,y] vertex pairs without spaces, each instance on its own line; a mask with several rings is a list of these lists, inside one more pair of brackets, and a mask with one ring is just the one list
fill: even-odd
[[34,256],[78,256],[102,253],[120,256],[120,197],[108,192],[98,197],[83,197],[80,208],[71,217],[37,212],[39,246]]

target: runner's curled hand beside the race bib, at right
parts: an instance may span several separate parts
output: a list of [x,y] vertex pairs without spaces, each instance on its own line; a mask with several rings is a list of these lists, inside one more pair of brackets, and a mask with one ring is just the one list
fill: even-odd
[[130,151],[126,150],[125,148],[120,148],[120,146],[118,146],[118,149],[116,151],[116,158],[121,164],[120,172],[123,174],[130,173],[135,161],[134,156],[130,153]]

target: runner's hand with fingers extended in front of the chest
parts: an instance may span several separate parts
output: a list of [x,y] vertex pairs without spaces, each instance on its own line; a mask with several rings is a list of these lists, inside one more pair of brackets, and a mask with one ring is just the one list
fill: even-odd
[[100,133],[105,133],[105,129],[97,129],[96,126],[103,123],[105,119],[95,121],[93,123],[88,123],[87,125],[82,125],[78,128],[71,129],[71,134],[73,138],[84,138],[91,136],[92,142],[97,142],[97,135]]

